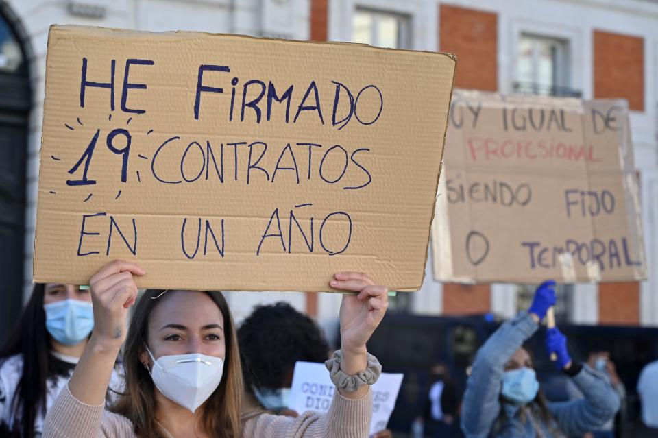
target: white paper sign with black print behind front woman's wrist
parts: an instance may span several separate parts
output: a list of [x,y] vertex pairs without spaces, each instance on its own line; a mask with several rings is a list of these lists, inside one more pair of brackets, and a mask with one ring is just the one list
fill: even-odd
[[[382,373],[372,385],[373,406],[370,435],[384,430],[398,400],[404,374]],[[289,409],[327,412],[336,387],[323,363],[297,362],[293,374]]]

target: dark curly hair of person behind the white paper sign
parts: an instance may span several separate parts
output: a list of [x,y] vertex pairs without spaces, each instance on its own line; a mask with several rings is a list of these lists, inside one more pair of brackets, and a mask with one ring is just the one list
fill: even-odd
[[258,306],[238,330],[245,388],[279,389],[295,362],[324,362],[329,346],[313,319],[285,302]]

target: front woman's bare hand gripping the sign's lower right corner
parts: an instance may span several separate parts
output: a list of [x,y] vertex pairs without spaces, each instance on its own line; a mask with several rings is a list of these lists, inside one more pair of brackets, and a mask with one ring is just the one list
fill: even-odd
[[334,289],[358,292],[343,295],[341,303],[341,348],[343,352],[365,353],[365,343],[382,321],[389,305],[389,291],[377,286],[365,273],[341,272],[329,282]]

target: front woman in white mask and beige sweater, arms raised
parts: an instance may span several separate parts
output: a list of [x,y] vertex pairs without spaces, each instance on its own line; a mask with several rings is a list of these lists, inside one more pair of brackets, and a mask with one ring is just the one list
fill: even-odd
[[[241,418],[243,380],[234,324],[219,292],[149,290],[136,302],[134,276],[121,261],[91,280],[95,330],[68,387],[46,416],[44,437],[363,437],[372,385],[381,372],[365,343],[387,308],[387,289],[362,273],[339,273],[330,286],[341,304],[341,350],[327,365],[339,391],[325,415]],[[126,393],[108,411],[103,398],[125,341]]]

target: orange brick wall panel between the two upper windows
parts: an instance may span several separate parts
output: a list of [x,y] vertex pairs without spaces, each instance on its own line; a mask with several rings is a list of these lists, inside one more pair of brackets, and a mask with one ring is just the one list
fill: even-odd
[[439,47],[457,56],[454,86],[498,90],[497,14],[441,5]]

